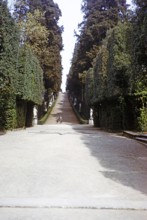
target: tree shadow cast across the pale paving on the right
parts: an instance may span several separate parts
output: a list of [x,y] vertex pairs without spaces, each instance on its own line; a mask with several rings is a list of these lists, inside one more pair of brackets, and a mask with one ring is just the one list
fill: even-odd
[[[101,174],[112,181],[147,195],[147,148],[121,135],[89,126],[77,130],[93,157],[101,165]],[[82,130],[83,129],[83,130]]]

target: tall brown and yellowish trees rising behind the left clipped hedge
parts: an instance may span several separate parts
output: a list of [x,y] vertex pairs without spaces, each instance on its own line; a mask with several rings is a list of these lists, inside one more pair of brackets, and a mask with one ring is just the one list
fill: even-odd
[[[24,25],[26,21],[29,21],[30,17],[34,18],[34,23],[32,25],[27,26],[27,33],[26,42],[30,44],[33,51],[37,55],[38,59],[40,60],[41,67],[44,73],[44,84],[46,88],[45,94],[45,102],[49,101],[49,95],[51,92],[58,93],[61,86],[62,81],[62,64],[61,64],[61,55],[60,52],[62,50],[62,27],[59,27],[58,20],[61,16],[61,11],[57,4],[53,2],[53,0],[22,0],[23,1],[23,17],[24,17]],[[20,15],[22,1],[17,0],[17,7],[15,9],[15,13],[18,17],[22,17]],[[36,19],[36,11],[40,12],[40,19]],[[28,17],[29,12],[29,17]],[[26,14],[25,14],[26,13]],[[17,16],[16,16],[17,17]],[[36,26],[35,24],[38,24]],[[36,26],[36,28],[35,28]],[[40,27],[39,27],[40,26]],[[47,34],[47,39],[44,39],[44,46],[43,41],[37,41],[37,39],[41,39],[40,32],[38,30],[43,30],[44,33]],[[33,31],[33,32],[32,32]],[[45,34],[45,35],[46,35]],[[34,35],[34,36],[33,36]],[[35,37],[36,36],[36,37]],[[31,39],[33,37],[33,40]],[[33,42],[33,41],[36,42]],[[38,49],[36,50],[36,45]],[[39,48],[40,47],[40,48]],[[44,49],[43,49],[44,48]],[[41,52],[42,51],[42,52]],[[36,53],[37,52],[37,53]],[[38,53],[39,52],[39,53]]]

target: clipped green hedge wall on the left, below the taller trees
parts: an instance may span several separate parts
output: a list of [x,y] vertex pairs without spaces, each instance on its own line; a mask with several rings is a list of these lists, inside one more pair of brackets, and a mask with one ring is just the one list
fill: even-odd
[[42,70],[39,61],[22,39],[20,42],[19,28],[7,8],[7,1],[1,1],[0,129],[32,125],[33,106],[42,104]]

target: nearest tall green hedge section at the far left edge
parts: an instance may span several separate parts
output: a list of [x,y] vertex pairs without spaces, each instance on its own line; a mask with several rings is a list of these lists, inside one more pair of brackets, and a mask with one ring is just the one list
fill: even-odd
[[0,129],[16,127],[17,51],[19,33],[7,8],[0,2]]

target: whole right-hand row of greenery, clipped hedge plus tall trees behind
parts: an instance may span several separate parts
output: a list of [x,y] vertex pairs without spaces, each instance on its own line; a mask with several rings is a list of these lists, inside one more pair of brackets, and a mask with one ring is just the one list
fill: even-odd
[[70,97],[93,109],[95,126],[147,130],[147,3],[84,0],[67,79]]

